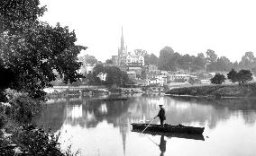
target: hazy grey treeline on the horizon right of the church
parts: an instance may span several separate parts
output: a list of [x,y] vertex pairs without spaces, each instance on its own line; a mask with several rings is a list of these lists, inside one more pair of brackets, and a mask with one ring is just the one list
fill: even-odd
[[206,55],[198,53],[197,56],[181,55],[170,47],[160,50],[160,56],[145,54],[145,65],[157,65],[160,70],[190,72],[228,72],[231,69],[247,69],[256,73],[256,57],[253,52],[246,52],[240,62],[231,62],[226,56],[217,56],[214,50],[207,49]]

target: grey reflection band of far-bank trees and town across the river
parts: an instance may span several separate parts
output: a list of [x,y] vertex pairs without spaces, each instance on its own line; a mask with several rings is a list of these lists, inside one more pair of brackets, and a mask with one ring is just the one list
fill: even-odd
[[254,124],[256,120],[254,100],[206,100],[143,95],[127,101],[60,100],[59,103],[50,104],[36,121],[38,125],[57,131],[64,122],[71,126],[96,127],[98,123],[106,120],[124,132],[130,121],[139,122],[155,117],[160,103],[165,105],[167,123],[172,125],[199,123],[205,126],[208,123],[210,128],[214,128],[217,122],[230,118],[237,111],[241,111],[247,124]]

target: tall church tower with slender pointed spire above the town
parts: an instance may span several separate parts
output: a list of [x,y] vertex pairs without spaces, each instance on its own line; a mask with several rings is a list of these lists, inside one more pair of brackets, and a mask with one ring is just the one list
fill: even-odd
[[127,56],[127,46],[124,46],[124,39],[123,39],[123,26],[121,32],[121,45],[118,48],[118,66],[121,70],[126,70],[126,56]]

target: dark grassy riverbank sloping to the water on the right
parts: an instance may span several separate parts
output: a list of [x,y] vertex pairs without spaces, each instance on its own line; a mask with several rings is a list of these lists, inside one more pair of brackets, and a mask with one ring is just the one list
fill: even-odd
[[175,96],[197,96],[211,98],[250,98],[256,96],[256,83],[249,83],[242,86],[238,84],[211,84],[204,86],[182,87],[167,91],[166,94]]

